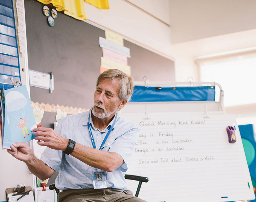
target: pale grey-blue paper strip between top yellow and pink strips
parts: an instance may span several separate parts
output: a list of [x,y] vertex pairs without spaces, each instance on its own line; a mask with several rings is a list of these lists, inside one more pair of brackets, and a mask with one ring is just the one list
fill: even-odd
[[99,37],[99,44],[101,48],[105,48],[111,50],[113,52],[124,55],[128,58],[131,58],[130,49],[124,46],[121,46],[117,43],[104,39],[103,37]]

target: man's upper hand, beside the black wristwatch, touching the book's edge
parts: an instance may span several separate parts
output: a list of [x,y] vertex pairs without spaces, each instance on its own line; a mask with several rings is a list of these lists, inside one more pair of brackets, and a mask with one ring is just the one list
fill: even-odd
[[68,139],[60,136],[52,128],[34,128],[32,130],[37,144],[47,146],[51,149],[58,149],[64,151],[68,145]]

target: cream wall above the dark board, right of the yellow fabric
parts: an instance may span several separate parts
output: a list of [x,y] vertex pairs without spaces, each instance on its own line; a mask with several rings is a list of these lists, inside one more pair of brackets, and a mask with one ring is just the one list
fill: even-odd
[[[171,45],[171,28],[156,18],[162,18],[168,22],[169,19],[166,12],[169,12],[169,1],[150,1],[161,9],[156,9],[151,15],[147,12],[152,11],[152,7],[148,7],[148,1],[145,2],[145,9],[142,11],[138,4],[134,6],[125,0],[109,0],[109,10],[100,10],[91,4],[84,3],[86,11],[86,22],[95,24],[96,26],[113,31],[124,36],[125,39],[139,44],[140,46],[154,51],[167,58],[173,57]],[[134,1],[131,1],[134,2]],[[162,15],[165,13],[165,15]]]

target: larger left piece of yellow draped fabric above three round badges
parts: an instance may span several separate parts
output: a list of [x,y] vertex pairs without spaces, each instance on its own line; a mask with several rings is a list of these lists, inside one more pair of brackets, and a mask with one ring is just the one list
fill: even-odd
[[43,4],[52,4],[57,11],[79,20],[86,20],[84,0],[37,0]]

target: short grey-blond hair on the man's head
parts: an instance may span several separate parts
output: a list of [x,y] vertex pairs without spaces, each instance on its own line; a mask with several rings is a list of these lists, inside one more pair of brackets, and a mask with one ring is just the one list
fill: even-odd
[[119,99],[129,102],[133,92],[132,78],[118,69],[108,69],[100,74],[97,79],[96,87],[99,85],[101,79],[118,79],[120,83]]

